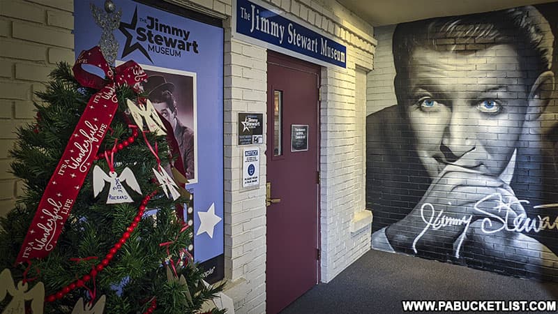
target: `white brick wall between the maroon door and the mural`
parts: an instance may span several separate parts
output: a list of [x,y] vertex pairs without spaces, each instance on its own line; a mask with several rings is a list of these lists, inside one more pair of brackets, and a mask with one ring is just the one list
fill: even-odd
[[325,283],[370,249],[370,224],[350,232],[355,214],[365,209],[365,119],[363,104],[356,102],[356,65],[370,69],[372,54],[348,46],[346,69],[322,70],[320,265]]

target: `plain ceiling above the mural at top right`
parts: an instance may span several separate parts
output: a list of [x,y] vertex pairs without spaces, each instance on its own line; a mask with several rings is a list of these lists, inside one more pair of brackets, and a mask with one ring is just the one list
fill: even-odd
[[372,26],[465,15],[555,0],[337,0]]

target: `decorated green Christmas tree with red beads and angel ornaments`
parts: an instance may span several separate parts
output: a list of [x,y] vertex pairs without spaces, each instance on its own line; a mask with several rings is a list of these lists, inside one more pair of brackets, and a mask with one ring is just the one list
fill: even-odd
[[[42,101],[35,104],[36,124],[17,130],[19,140],[11,151],[15,158],[12,167],[25,192],[16,208],[0,218],[0,270],[11,272],[11,278],[7,271],[3,272],[0,282],[11,281],[8,285],[17,287],[21,281],[27,287],[17,287],[18,291],[10,291],[8,285],[1,287],[0,309],[17,308],[18,301],[33,297],[33,304],[44,302],[45,313],[72,313],[82,298],[85,304],[95,307],[106,299],[105,313],[194,313],[222,290],[222,285],[204,284],[202,271],[187,250],[193,241],[193,227],[176,214],[181,213],[176,206],[188,206],[188,193],[181,189],[179,196],[175,190],[174,195],[179,197],[173,200],[172,184],[167,181],[167,186],[162,185],[165,180],[160,177],[164,177],[164,168],[168,170],[172,159],[165,135],[144,130],[144,125],[135,124],[131,117],[137,107],[130,112],[129,103],[142,107],[145,100],[138,96],[137,84],[121,81],[126,74],[141,76],[143,71],[129,68],[119,76],[119,69],[107,69],[109,75],[101,82],[113,85],[103,91],[116,97],[117,108],[114,115],[110,114],[110,124],[104,126],[102,141],[96,142],[93,133],[89,133],[101,131],[91,125],[97,121],[94,114],[86,118],[90,121],[86,121],[86,132],[76,126],[80,119],[84,120],[87,107],[96,113],[98,109],[93,105],[101,107],[102,102],[96,100],[104,95],[91,84],[80,84],[67,63],[59,63],[45,91],[37,93]],[[71,146],[68,143],[73,137],[85,140]],[[93,145],[98,145],[98,151],[91,156],[91,163],[86,163],[86,151],[91,153]],[[77,157],[63,160],[65,154]],[[56,184],[67,183],[55,182],[56,171],[64,172],[71,180],[75,177],[73,172],[78,172],[75,168],[80,167],[88,170],[83,174],[82,186],[75,186],[77,196],[71,210],[66,206],[68,201],[56,201],[56,195],[65,191],[51,192],[47,199],[56,211],[42,209],[39,204],[45,201],[45,194]],[[104,186],[103,180],[112,182],[110,188]],[[126,202],[120,202],[123,199]],[[37,214],[38,211],[43,213]],[[68,214],[65,223],[62,213]],[[36,224],[37,219],[47,219],[49,223]],[[47,249],[47,254],[24,258],[25,243],[34,236],[33,230],[51,236],[56,226],[61,226],[61,233],[50,243],[54,244],[52,248],[45,244],[44,237],[37,240],[41,245],[31,242],[34,247],[29,251],[38,247]],[[36,294],[39,289],[34,290],[40,283],[44,285],[44,296]],[[41,297],[44,299],[36,299]],[[212,312],[219,313],[217,309]]]

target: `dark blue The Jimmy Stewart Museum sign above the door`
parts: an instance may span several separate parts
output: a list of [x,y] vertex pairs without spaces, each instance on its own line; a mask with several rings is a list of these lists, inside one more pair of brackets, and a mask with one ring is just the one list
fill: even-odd
[[345,68],[347,47],[248,0],[236,0],[236,33]]

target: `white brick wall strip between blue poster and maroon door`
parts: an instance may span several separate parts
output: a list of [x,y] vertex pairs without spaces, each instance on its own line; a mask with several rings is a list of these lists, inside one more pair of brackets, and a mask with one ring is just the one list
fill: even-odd
[[[225,293],[236,313],[265,311],[266,207],[265,144],[261,151],[258,188],[243,189],[239,112],[264,112],[266,121],[267,52],[231,38],[225,24]],[[265,127],[264,127],[265,130]]]

